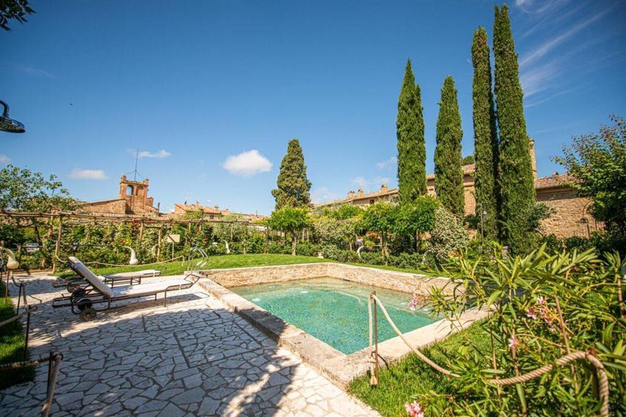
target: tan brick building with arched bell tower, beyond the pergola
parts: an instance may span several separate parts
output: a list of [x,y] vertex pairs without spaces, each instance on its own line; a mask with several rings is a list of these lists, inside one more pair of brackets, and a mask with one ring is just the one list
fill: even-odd
[[118,198],[81,203],[81,209],[101,214],[118,215],[156,215],[158,210],[153,207],[154,200],[148,197],[147,178],[143,181],[130,181],[126,175],[120,178]]

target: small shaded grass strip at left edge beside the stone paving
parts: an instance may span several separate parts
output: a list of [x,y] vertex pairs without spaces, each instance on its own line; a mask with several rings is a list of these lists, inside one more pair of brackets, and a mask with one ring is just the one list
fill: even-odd
[[[10,298],[4,299],[4,284],[0,283],[0,321],[4,321],[14,314],[13,301]],[[0,327],[0,364],[23,361],[24,342],[24,329],[19,320]],[[0,371],[0,389],[32,381],[33,378],[33,367]]]

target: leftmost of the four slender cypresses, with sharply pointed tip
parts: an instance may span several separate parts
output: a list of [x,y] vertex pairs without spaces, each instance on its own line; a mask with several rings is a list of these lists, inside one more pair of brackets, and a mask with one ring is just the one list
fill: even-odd
[[419,85],[415,83],[411,59],[406,61],[398,98],[398,187],[401,202],[426,194],[426,141]]

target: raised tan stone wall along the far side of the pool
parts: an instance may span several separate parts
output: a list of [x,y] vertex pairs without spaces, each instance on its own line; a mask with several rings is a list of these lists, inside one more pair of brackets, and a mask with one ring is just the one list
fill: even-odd
[[294,281],[296,279],[332,277],[423,296],[429,294],[431,287],[439,287],[444,294],[464,290],[463,286],[459,286],[458,283],[445,277],[429,277],[411,272],[337,264],[336,262],[209,269],[200,271],[200,274],[227,288],[267,284],[268,282]]

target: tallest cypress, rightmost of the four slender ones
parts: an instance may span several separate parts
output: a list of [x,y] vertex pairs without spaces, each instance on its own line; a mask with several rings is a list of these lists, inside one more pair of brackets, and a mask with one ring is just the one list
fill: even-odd
[[528,217],[535,206],[536,193],[517,54],[506,4],[501,10],[495,8],[493,54],[500,130],[501,238],[516,250],[523,247],[528,237]]

